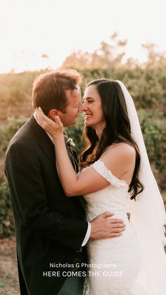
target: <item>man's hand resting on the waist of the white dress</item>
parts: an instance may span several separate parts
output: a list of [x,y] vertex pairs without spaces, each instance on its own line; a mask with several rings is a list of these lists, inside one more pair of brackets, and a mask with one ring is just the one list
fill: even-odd
[[125,230],[124,221],[110,217],[113,217],[113,213],[105,212],[91,220],[91,238],[108,239],[122,235]]

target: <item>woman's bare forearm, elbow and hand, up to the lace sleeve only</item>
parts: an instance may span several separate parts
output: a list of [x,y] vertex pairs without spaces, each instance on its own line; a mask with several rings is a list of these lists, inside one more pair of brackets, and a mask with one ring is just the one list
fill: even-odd
[[37,123],[53,137],[56,151],[56,165],[60,182],[67,196],[79,196],[96,192],[107,187],[109,182],[91,166],[82,173],[76,173],[70,162],[63,135],[63,124],[57,116],[54,121],[42,112],[36,110]]

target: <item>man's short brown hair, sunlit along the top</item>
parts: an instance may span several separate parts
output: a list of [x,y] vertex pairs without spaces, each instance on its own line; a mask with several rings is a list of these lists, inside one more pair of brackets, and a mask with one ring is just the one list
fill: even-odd
[[68,105],[66,90],[77,89],[76,84],[80,82],[82,75],[77,70],[56,70],[39,75],[33,83],[33,108],[40,106],[46,115],[53,108],[64,112]]

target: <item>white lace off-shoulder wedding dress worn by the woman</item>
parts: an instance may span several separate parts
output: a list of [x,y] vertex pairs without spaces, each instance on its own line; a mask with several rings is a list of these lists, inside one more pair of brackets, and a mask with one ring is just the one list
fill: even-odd
[[[85,295],[144,295],[136,277],[139,273],[139,243],[127,218],[127,191],[125,180],[118,180],[101,160],[93,164],[110,185],[87,194],[87,220],[110,211],[113,218],[124,220],[122,236],[110,239],[89,239],[87,244],[89,268],[84,286]],[[150,295],[150,294],[148,294]]]

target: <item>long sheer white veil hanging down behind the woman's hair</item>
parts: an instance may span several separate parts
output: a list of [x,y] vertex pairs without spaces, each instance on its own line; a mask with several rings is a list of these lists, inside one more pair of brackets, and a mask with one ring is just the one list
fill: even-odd
[[132,137],[139,146],[141,155],[139,180],[143,183],[144,189],[136,196],[136,201],[127,199],[127,211],[130,213],[130,221],[139,240],[141,258],[139,283],[145,291],[148,290],[148,295],[164,295],[166,277],[165,206],[148,160],[134,101],[125,85],[121,81],[117,82],[125,96]]

